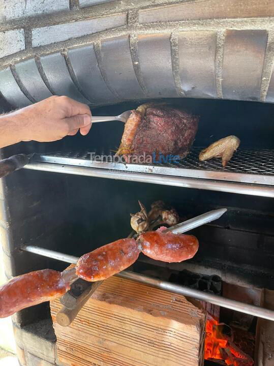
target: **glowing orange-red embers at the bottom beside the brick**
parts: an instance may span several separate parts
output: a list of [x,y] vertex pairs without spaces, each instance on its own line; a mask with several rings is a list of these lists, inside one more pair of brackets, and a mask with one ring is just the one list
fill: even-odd
[[[204,358],[228,366],[253,366],[253,359],[233,343],[233,333],[226,324],[210,318],[206,322]],[[219,360],[219,361],[218,361]],[[221,362],[220,362],[221,361]]]

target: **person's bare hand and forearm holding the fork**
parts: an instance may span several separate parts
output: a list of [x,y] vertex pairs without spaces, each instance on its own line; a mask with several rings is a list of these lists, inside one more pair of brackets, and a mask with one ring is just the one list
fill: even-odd
[[0,148],[20,141],[49,142],[65,136],[84,136],[92,126],[87,105],[53,96],[9,114],[0,115]]

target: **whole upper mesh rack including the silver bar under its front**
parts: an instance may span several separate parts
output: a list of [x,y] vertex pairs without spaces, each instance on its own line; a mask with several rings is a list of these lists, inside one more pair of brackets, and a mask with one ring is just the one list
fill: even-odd
[[200,162],[201,149],[193,147],[186,158],[176,162],[126,164],[114,157],[114,149],[93,147],[36,154],[25,168],[274,197],[274,150],[238,149],[223,168],[221,159]]

